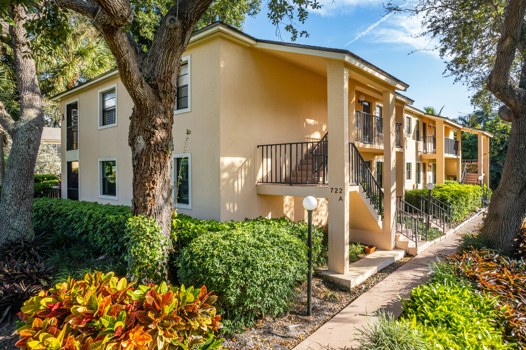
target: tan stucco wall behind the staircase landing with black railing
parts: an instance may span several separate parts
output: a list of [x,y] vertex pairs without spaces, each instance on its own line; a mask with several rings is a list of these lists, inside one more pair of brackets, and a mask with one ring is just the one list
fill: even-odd
[[[259,215],[305,219],[302,198],[256,193],[261,177],[257,146],[323,137],[327,132],[326,78],[227,39],[220,40],[220,51],[221,220]],[[326,210],[326,202],[324,206]],[[315,215],[323,216],[321,208]]]

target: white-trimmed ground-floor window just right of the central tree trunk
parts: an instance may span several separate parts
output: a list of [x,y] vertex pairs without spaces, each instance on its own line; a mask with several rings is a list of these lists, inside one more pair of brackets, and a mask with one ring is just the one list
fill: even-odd
[[172,155],[174,166],[171,178],[174,184],[174,207],[192,209],[192,167],[190,153]]

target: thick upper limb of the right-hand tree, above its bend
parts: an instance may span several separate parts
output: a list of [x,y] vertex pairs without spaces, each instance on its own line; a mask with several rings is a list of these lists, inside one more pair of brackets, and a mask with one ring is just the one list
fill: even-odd
[[526,101],[526,91],[511,78],[513,60],[522,32],[526,0],[510,0],[504,11],[501,37],[497,45],[495,64],[486,84],[493,95],[517,114]]

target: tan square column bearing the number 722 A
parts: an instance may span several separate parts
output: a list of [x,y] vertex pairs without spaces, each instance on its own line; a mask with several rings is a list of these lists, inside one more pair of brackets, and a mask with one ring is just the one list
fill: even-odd
[[[327,61],[327,125],[329,131],[329,271],[349,272],[349,69]],[[355,94],[355,92],[353,92]]]

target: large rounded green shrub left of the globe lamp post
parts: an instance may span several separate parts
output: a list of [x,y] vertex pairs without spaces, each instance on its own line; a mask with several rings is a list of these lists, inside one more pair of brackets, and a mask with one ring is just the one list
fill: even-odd
[[307,276],[307,247],[286,227],[254,225],[198,236],[177,265],[181,282],[218,294],[218,311],[234,331],[289,310],[295,283]]

